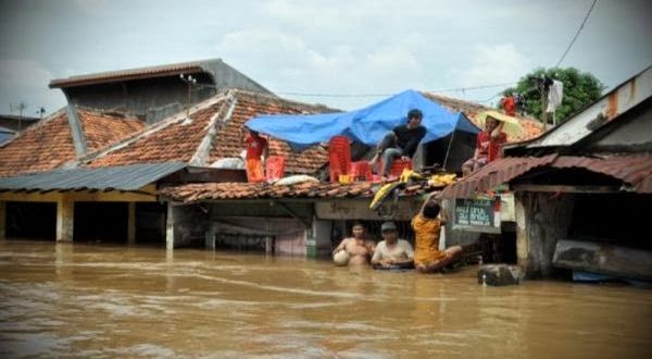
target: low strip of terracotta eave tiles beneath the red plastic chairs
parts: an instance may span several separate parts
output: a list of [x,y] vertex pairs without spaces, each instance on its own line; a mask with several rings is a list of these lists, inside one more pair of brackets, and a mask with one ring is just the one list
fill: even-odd
[[[294,185],[266,183],[202,183],[166,187],[160,195],[176,201],[199,202],[227,199],[274,199],[274,198],[373,198],[379,184],[356,182],[351,184],[303,182]],[[409,197],[431,191],[426,181],[400,190],[399,196]],[[436,188],[435,188],[436,189]]]

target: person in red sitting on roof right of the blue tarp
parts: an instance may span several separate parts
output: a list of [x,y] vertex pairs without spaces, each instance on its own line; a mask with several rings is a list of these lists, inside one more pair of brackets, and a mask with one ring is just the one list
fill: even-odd
[[507,135],[502,132],[504,122],[490,115],[485,120],[485,129],[478,134],[474,156],[462,164],[462,174],[469,175],[500,154],[500,147],[507,141]]

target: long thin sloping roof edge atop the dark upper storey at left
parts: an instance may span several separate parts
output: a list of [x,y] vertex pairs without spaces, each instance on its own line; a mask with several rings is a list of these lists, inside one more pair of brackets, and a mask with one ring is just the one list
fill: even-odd
[[218,62],[220,59],[205,60],[205,61],[192,61],[173,63],[160,66],[147,66],[138,69],[109,71],[95,74],[86,74],[78,76],[70,76],[66,78],[57,78],[50,82],[50,88],[71,87],[86,84],[100,84],[106,82],[114,82],[118,79],[131,79],[139,78],[142,76],[154,77],[154,76],[167,76],[180,74],[184,72],[200,72],[203,71],[202,65],[208,62]]

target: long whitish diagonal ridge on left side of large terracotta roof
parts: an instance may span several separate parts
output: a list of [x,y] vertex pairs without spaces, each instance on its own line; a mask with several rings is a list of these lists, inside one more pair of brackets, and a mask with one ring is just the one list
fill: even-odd
[[211,106],[214,106],[214,104],[218,103],[220,101],[225,100],[227,97],[228,97],[228,91],[226,91],[226,92],[220,92],[216,96],[213,96],[213,97],[211,97],[211,98],[209,98],[206,100],[203,100],[203,101],[201,101],[201,102],[192,106],[190,108],[190,110],[188,111],[188,113],[187,113],[186,110],[184,110],[184,111],[180,111],[180,112],[178,112],[176,114],[173,114],[173,115],[168,116],[167,119],[165,119],[163,121],[156,122],[156,123],[152,124],[151,126],[146,127],[142,131],[137,132],[134,135],[126,137],[122,141],[115,143],[115,144],[111,145],[110,147],[106,147],[106,148],[100,149],[98,151],[95,151],[93,153],[89,153],[85,158],[79,159],[78,162],[79,163],[82,163],[82,162],[84,162],[84,163],[91,162],[92,160],[97,160],[97,159],[102,158],[102,157],[104,157],[104,156],[106,156],[106,154],[109,154],[109,153],[111,153],[113,151],[116,151],[116,150],[120,150],[120,149],[122,149],[124,147],[127,147],[130,144],[133,144],[133,143],[141,139],[141,138],[145,138],[145,137],[147,137],[147,136],[149,136],[149,135],[151,135],[153,133],[156,133],[156,132],[159,132],[159,131],[161,131],[163,128],[166,128],[167,126],[174,125],[174,124],[176,124],[178,122],[181,122],[181,121],[187,121],[189,119],[188,114],[191,115],[191,114],[193,114],[196,112],[204,110],[204,109],[206,109],[206,108],[209,108]]

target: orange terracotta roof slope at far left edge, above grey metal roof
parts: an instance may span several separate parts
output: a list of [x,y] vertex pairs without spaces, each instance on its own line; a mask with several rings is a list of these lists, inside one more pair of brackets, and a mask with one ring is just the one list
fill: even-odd
[[60,110],[0,146],[0,176],[52,170],[74,159],[67,115]]

